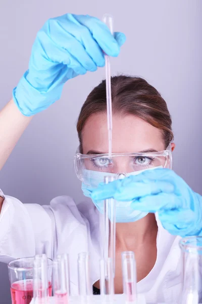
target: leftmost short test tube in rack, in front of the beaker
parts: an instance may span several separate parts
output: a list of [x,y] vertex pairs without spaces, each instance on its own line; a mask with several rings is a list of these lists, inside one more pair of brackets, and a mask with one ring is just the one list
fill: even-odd
[[48,263],[45,254],[36,255],[34,259],[33,298],[34,304],[48,303]]

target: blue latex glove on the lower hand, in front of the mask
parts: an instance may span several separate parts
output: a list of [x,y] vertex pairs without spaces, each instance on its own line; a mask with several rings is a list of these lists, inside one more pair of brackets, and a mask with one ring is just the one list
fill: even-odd
[[94,200],[133,200],[135,210],[158,212],[163,227],[172,235],[202,235],[202,197],[169,169],[147,170],[138,175],[100,184]]

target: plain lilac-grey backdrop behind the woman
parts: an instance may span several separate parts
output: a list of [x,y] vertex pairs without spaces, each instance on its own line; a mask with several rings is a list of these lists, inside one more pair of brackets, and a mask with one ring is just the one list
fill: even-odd
[[[46,19],[66,12],[102,18],[109,12],[115,30],[127,36],[120,57],[112,60],[113,74],[140,75],[162,93],[173,118],[174,169],[201,194],[201,8],[200,0],[1,1],[0,108],[27,69],[36,32]],[[81,199],[72,161],[76,120],[87,94],[104,77],[99,69],[69,81],[61,100],[33,119],[0,172],[5,194],[38,204],[65,194]],[[1,303],[10,302],[4,264],[0,295]]]

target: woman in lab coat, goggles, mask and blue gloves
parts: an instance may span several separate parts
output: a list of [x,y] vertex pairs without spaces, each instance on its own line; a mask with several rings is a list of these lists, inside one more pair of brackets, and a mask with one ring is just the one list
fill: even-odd
[[[66,14],[45,23],[34,42],[29,70],[0,114],[1,167],[33,115],[60,98],[64,83],[104,66],[103,51],[118,56],[124,41],[124,34],[113,37],[105,24],[89,16]],[[138,291],[149,302],[177,301],[181,287],[178,242],[181,236],[201,234],[201,197],[169,170],[175,147],[170,114],[157,90],[140,78],[112,79],[113,161],[105,155],[105,94],[103,82],[87,97],[77,124],[76,172],[84,195],[94,204],[87,199],[75,205],[72,198],[63,196],[49,206],[23,205],[1,193],[1,261],[44,252],[53,258],[68,252],[75,294],[77,254],[89,251],[91,283],[99,289],[98,210],[102,211],[103,199],[114,197],[116,293],[122,293],[121,252],[132,250]],[[121,179],[98,186],[106,173]]]

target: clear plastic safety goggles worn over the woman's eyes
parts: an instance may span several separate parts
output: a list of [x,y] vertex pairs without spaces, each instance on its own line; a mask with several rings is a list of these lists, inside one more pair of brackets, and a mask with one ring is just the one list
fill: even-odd
[[84,155],[79,148],[74,156],[74,167],[77,177],[86,185],[97,185],[96,180],[104,182],[107,175],[114,175],[116,179],[136,175],[138,171],[168,168],[172,169],[171,144],[166,150],[144,153],[112,153]]

